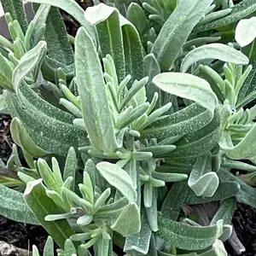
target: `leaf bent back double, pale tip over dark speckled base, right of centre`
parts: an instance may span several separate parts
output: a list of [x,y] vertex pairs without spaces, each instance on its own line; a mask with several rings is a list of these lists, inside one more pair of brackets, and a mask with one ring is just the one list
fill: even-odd
[[206,80],[188,73],[160,73],[154,77],[153,83],[160,90],[189,99],[196,104],[156,120],[140,131],[142,135],[149,137],[182,135],[198,131],[212,120],[218,99]]

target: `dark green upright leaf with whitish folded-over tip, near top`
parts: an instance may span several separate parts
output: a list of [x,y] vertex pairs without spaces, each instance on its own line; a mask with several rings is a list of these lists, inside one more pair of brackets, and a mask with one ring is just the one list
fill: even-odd
[[99,3],[87,8],[84,15],[96,26],[102,57],[113,57],[120,83],[125,79],[125,53],[118,9]]

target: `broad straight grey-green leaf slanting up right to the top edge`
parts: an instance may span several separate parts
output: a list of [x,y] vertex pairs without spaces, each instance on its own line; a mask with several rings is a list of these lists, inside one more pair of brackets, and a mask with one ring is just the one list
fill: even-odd
[[163,70],[169,70],[177,59],[190,32],[207,12],[213,0],[180,0],[172,15],[162,26],[152,53]]

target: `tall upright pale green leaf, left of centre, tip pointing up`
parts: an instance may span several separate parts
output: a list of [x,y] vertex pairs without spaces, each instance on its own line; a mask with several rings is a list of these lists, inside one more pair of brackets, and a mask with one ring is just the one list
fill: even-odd
[[100,152],[113,152],[118,146],[102,66],[95,45],[83,27],[75,38],[75,48],[77,84],[90,142]]

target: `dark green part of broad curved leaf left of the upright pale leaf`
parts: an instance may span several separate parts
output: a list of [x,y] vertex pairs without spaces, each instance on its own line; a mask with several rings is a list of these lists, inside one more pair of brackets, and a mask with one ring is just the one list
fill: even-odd
[[20,95],[21,103],[15,94],[9,93],[8,107],[12,117],[20,119],[38,147],[53,154],[66,155],[70,147],[79,148],[79,137],[89,145],[87,134],[73,126],[71,114],[45,102],[26,83],[21,84]]

